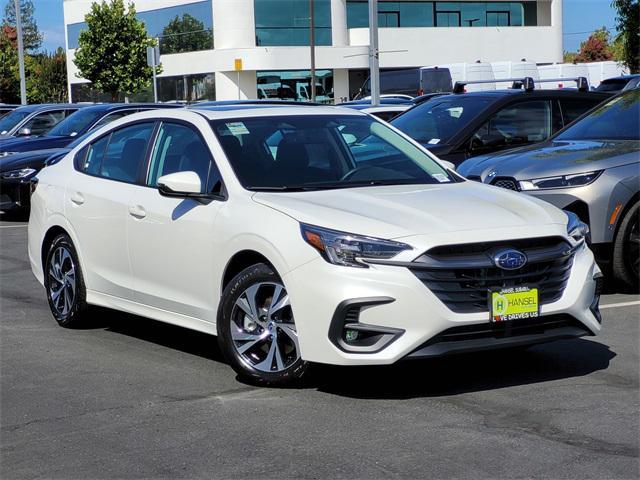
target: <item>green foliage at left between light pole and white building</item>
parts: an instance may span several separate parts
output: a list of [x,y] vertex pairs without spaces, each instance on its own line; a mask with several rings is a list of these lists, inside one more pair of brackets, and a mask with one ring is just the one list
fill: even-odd
[[27,98],[29,103],[62,103],[67,96],[67,58],[58,48],[53,53],[27,57]]

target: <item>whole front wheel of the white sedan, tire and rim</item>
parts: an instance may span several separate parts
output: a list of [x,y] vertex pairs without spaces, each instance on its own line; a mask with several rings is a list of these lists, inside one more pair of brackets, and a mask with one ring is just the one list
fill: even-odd
[[246,268],[229,282],[222,293],[217,328],[225,358],[252,383],[289,385],[307,368],[300,357],[289,295],[264,263]]

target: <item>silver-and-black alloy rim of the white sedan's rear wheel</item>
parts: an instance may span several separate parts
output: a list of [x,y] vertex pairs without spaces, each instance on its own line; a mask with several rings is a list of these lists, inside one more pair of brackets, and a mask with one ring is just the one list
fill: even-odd
[[49,263],[49,298],[60,316],[69,314],[76,297],[76,267],[69,250],[56,248]]

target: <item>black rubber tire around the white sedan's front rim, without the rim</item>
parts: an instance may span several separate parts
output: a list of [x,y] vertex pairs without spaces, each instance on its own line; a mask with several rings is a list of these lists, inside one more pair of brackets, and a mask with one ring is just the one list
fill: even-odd
[[241,359],[231,338],[231,315],[235,302],[247,288],[260,282],[282,283],[282,280],[273,268],[264,263],[259,263],[244,269],[224,289],[218,308],[218,345],[224,357],[240,377],[260,385],[290,385],[301,378],[306,371],[307,362],[302,358],[282,372],[262,372],[252,368]]

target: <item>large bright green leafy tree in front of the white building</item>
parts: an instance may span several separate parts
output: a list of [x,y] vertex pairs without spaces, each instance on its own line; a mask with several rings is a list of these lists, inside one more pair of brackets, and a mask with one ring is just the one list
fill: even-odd
[[155,40],[147,37],[133,4],[125,10],[123,0],[93,3],[85,21],[87,29],[80,32],[74,59],[79,76],[111,94],[113,101],[148,86],[153,72],[147,65],[147,47]]

